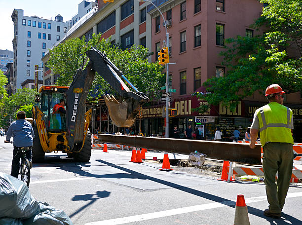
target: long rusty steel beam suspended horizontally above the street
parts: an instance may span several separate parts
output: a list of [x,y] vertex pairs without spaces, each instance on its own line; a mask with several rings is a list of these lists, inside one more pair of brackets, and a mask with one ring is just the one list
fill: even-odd
[[98,136],[100,141],[106,143],[188,155],[190,154],[190,152],[197,150],[201,153],[206,154],[208,158],[251,165],[261,164],[261,145],[256,145],[255,149],[250,149],[249,144],[232,142],[149,138],[111,134],[98,134]]

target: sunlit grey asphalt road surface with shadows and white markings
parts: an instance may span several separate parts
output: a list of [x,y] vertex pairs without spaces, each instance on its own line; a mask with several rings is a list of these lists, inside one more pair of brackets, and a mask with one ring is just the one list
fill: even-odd
[[[0,137],[0,172],[10,174],[12,144],[3,141]],[[159,171],[161,164],[130,158],[126,150],[93,150],[89,163],[47,154],[44,163],[33,165],[30,191],[65,211],[75,225],[231,225],[239,193],[251,225],[302,224],[302,186],[289,188],[282,219],[275,220],[263,215],[268,206],[263,183],[228,184],[207,175]]]

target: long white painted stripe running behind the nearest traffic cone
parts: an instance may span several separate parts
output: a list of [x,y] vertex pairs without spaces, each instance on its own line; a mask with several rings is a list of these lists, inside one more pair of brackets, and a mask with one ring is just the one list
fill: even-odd
[[[288,193],[286,198],[301,197],[301,196],[302,196],[302,192],[295,192],[295,193]],[[252,198],[246,198],[245,203],[259,202],[259,201],[265,201],[265,200],[266,200],[266,196],[252,197]],[[130,216],[130,217],[122,217],[122,218],[116,218],[116,219],[111,219],[111,220],[91,222],[91,223],[87,223],[85,225],[128,224],[128,223],[134,223],[134,222],[138,222],[138,221],[145,221],[145,220],[151,220],[151,219],[156,219],[156,218],[174,216],[174,215],[178,215],[178,214],[191,213],[191,212],[196,212],[196,211],[201,211],[201,210],[230,206],[230,205],[234,205],[235,202],[236,202],[236,200],[224,201],[222,203],[214,202],[214,203],[208,203],[208,204],[203,204],[203,205],[195,205],[195,206],[183,207],[183,208],[178,208],[178,209],[164,210],[164,211],[154,212],[154,213],[146,213],[146,214]]]

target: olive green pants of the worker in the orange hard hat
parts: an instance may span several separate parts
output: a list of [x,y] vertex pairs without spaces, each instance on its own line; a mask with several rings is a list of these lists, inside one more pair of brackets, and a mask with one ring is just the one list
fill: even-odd
[[[293,145],[269,142],[264,145],[263,171],[269,211],[281,213],[293,170]],[[275,176],[278,172],[277,185]]]

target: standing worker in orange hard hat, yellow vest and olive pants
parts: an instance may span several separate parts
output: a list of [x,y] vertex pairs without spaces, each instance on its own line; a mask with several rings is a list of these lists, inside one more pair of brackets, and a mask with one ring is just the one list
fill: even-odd
[[[260,131],[263,147],[263,171],[266,197],[269,209],[264,216],[281,218],[281,211],[289,188],[293,170],[293,112],[283,106],[285,92],[278,84],[271,84],[265,90],[269,103],[256,110],[250,129],[250,148],[255,148],[255,141]],[[277,185],[275,184],[278,172]]]

